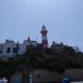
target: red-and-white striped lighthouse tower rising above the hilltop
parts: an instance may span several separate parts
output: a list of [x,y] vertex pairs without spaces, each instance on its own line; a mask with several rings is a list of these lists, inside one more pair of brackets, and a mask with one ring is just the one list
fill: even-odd
[[42,25],[42,29],[41,29],[41,34],[42,34],[42,45],[43,48],[48,48],[48,30],[44,25]]

